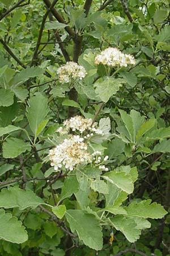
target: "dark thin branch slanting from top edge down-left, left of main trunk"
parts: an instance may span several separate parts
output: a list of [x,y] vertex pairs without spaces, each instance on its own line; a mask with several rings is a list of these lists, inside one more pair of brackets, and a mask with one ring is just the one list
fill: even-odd
[[53,3],[50,4],[50,6],[48,7],[48,10],[46,11],[45,15],[42,18],[42,23],[41,23],[41,27],[40,27],[40,31],[39,31],[39,36],[38,36],[38,39],[37,39],[37,44],[36,44],[35,51],[34,51],[33,56],[32,56],[30,67],[32,67],[32,65],[33,65],[33,63],[34,63],[34,61],[37,57],[37,52],[39,51],[39,46],[40,46],[40,42],[41,42],[42,32],[44,30],[46,18],[48,17],[48,14],[50,13],[50,11],[54,7],[54,5],[56,5],[57,1],[58,0],[54,0]]

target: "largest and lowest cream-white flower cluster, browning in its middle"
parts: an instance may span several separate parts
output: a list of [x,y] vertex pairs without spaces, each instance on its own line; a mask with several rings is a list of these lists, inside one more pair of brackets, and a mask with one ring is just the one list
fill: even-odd
[[79,135],[70,135],[61,144],[49,151],[49,159],[54,170],[62,166],[73,171],[73,168],[80,163],[91,163],[92,156],[87,151],[87,144]]

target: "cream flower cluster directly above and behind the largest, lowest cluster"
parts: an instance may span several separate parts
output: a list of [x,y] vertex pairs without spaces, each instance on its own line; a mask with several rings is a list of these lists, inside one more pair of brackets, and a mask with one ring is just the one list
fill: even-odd
[[58,132],[63,135],[69,132],[71,129],[72,131],[78,131],[80,134],[82,134],[84,131],[89,130],[90,134],[87,134],[84,136],[84,139],[90,138],[91,136],[95,134],[104,135],[103,131],[97,128],[97,123],[94,123],[92,125],[92,119],[91,118],[84,118],[81,115],[76,115],[75,117],[71,117],[69,120],[65,120],[63,122],[63,127],[58,128]]

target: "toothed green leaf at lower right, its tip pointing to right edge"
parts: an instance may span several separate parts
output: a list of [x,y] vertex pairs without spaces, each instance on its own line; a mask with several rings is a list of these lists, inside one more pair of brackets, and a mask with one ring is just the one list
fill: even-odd
[[143,217],[143,218],[163,218],[167,211],[162,205],[157,203],[151,204],[151,199],[143,200],[137,204],[133,202],[124,208],[129,216]]

